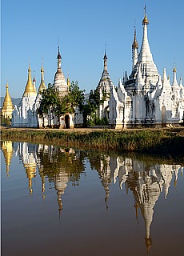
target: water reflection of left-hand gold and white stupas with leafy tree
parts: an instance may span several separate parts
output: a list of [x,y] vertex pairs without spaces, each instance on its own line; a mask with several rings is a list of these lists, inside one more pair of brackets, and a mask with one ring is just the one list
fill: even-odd
[[[62,149],[58,146],[36,145],[27,142],[2,142],[2,151],[6,160],[6,170],[9,171],[10,159],[14,152],[26,170],[29,180],[30,194],[33,192],[32,180],[37,170],[42,181],[42,198],[45,198],[46,179],[54,183],[57,190],[59,216],[62,210],[62,194],[67,183],[71,181],[78,184],[80,174],[85,169],[80,154],[73,149]],[[76,183],[75,183],[76,182]]]

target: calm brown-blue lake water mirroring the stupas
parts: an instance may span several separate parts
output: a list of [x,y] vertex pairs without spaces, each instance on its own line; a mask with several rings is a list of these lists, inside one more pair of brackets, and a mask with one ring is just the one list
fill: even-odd
[[184,255],[184,163],[1,144],[2,256]]

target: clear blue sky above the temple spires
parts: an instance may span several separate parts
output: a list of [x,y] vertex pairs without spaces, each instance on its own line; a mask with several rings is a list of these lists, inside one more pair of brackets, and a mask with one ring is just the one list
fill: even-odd
[[10,96],[22,97],[29,59],[37,89],[42,58],[46,85],[53,83],[58,38],[66,78],[69,74],[70,81],[78,81],[86,92],[95,89],[106,46],[110,78],[117,86],[123,72],[131,71],[134,26],[140,49],[145,3],[150,49],[159,73],[166,67],[172,81],[175,61],[178,80],[184,80],[184,1],[2,0],[2,96],[8,79]]

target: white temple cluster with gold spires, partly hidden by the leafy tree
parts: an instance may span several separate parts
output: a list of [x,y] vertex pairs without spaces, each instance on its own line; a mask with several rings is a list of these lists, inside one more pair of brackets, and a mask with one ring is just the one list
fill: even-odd
[[[54,84],[53,86],[57,88],[61,97],[66,95],[69,91],[70,80],[66,78],[62,72],[62,56],[59,52],[58,47],[58,69],[54,74]],[[46,85],[44,82],[44,70],[43,66],[41,68],[41,82],[38,88],[38,93],[36,92],[36,80],[31,79],[31,69],[28,69],[28,80],[26,83],[26,88],[24,94],[22,95],[22,101],[20,106],[14,106],[12,113],[12,126],[13,127],[59,127],[59,128],[73,128],[74,124],[76,126],[82,126],[83,118],[82,114],[76,108],[76,113],[70,114],[66,113],[60,118],[58,118],[52,110],[48,111],[48,114],[43,114],[40,117],[38,114],[38,108],[40,106],[40,101],[42,95],[40,94],[42,90],[46,90]]]

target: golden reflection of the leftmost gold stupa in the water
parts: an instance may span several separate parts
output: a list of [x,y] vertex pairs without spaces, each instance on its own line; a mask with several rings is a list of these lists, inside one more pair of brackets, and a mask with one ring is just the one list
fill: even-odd
[[13,156],[13,146],[11,141],[2,142],[2,152],[4,154],[5,162],[6,162],[6,174],[9,177],[10,171],[10,162]]

